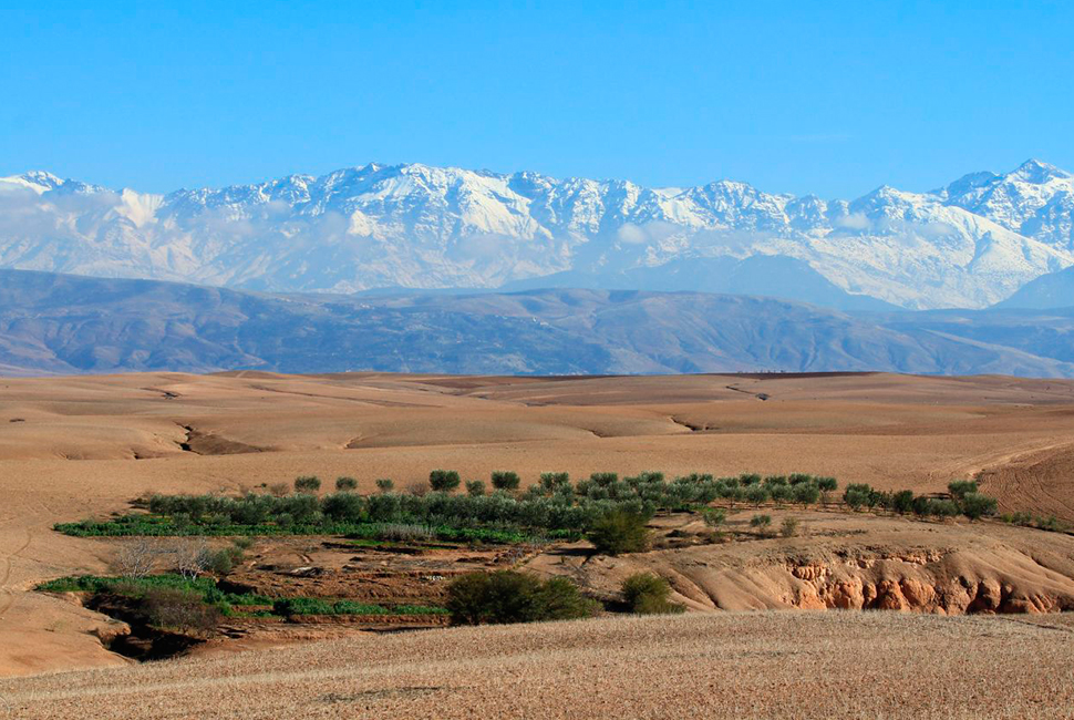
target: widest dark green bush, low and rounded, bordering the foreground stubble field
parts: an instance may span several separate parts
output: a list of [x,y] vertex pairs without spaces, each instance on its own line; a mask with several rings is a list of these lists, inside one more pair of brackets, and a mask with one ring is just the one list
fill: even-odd
[[590,617],[597,606],[566,578],[540,582],[515,570],[472,573],[447,586],[456,625],[534,623]]

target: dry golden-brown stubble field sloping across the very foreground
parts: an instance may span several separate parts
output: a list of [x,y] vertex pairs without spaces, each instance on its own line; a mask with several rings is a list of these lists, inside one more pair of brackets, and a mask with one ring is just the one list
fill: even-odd
[[1074,716],[1068,627],[898,614],[725,614],[363,637],[0,682],[53,718]]

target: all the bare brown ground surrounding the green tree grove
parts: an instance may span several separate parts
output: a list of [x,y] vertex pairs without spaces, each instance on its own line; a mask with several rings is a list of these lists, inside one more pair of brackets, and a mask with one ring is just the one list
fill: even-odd
[[[916,492],[979,476],[1001,511],[1070,522],[1074,382],[890,374],[0,379],[0,676],[18,676],[0,683],[0,713],[1074,717],[1067,615],[716,611],[839,606],[815,603],[810,592],[819,600],[884,592],[891,607],[929,611],[949,601],[918,598],[913,584],[899,585],[896,596],[884,585],[896,565],[906,566],[896,568],[903,579],[937,587],[938,578],[975,578],[956,603],[963,609],[1066,607],[1074,538],[995,522],[810,511],[799,513],[806,532],[796,538],[669,546],[586,567],[548,554],[530,569],[566,574],[597,594],[612,592],[628,570],[655,569],[699,613],[281,641],[283,651],[221,650],[143,666],[102,646],[107,618],[31,590],[43,579],[104,572],[113,552],[103,541],[60,535],[53,523],[124,510],[147,491],[236,492],[299,474],[350,475],[371,491],[375,479],[406,487],[434,467],[482,479],[515,470],[524,482],[544,471],[801,471]],[[915,569],[922,563],[932,563],[927,576]],[[818,576],[837,582],[822,585]],[[24,677],[64,670],[85,671]]]

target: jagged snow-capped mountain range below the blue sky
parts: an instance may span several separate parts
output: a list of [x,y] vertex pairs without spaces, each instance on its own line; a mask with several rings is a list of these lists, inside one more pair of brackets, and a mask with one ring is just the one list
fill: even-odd
[[850,295],[980,308],[1074,265],[1072,217],[1074,175],[1039,161],[850,202],[420,164],[168,195],[31,172],[0,178],[0,267],[352,292],[777,257]]

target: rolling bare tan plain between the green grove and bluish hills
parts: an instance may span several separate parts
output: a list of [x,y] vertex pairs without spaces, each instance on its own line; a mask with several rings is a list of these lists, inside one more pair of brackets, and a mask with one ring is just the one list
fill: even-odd
[[[1074,382],[999,377],[0,379],[0,675],[126,664],[91,632],[107,631],[105,618],[27,590],[105,568],[106,543],[52,523],[122,510],[147,490],[231,492],[303,473],[405,487],[442,466],[526,481],[548,470],[803,471],[938,491],[984,471],[1003,510],[1074,520],[1072,431]],[[706,597],[698,603],[720,605]]]

